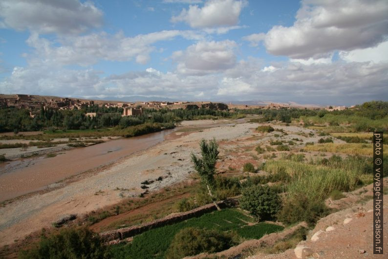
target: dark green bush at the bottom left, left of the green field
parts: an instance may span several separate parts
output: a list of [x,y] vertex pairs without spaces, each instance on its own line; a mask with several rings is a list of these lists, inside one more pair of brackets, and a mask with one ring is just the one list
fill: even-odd
[[42,236],[34,248],[22,251],[20,259],[105,259],[108,252],[101,238],[87,228],[64,229],[57,235]]

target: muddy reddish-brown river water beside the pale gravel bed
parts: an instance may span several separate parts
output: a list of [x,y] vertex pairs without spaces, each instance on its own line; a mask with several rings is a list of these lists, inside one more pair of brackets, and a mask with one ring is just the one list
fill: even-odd
[[64,150],[52,158],[35,157],[0,165],[0,202],[45,189],[70,176],[111,164],[164,141],[174,131],[176,128]]

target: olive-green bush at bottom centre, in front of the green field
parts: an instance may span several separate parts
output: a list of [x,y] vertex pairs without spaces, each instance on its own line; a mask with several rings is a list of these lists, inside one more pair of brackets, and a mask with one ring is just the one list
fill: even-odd
[[217,230],[185,228],[173,238],[167,259],[181,259],[199,253],[215,253],[237,244],[237,235]]

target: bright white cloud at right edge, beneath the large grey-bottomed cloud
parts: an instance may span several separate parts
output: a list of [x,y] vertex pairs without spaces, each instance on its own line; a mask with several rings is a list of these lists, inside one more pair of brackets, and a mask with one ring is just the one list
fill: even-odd
[[388,62],[388,41],[380,43],[376,47],[340,51],[339,55],[347,62]]

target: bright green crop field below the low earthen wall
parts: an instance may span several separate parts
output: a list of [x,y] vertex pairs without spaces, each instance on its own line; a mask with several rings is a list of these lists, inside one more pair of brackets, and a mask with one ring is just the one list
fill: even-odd
[[188,219],[173,225],[152,229],[133,238],[129,244],[111,247],[114,259],[163,259],[172,238],[179,230],[187,227],[208,228],[220,231],[236,231],[243,238],[260,238],[261,236],[281,231],[277,225],[259,223],[248,226],[253,219],[236,209],[207,213],[198,218]]

